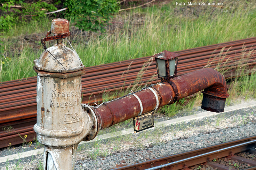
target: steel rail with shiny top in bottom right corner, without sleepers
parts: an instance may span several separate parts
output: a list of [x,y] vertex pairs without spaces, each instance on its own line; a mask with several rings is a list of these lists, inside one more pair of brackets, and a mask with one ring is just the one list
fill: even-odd
[[[134,170],[134,169],[183,169],[184,165],[194,166],[197,164],[209,162],[213,159],[223,158],[238,152],[243,152],[256,147],[256,136],[246,137],[235,141],[216,144],[188,152],[178,153],[171,156],[152,159],[137,164],[123,166],[114,170]],[[245,159],[244,159],[245,160]],[[255,162],[256,164],[256,162]],[[254,167],[255,168],[255,167]]]

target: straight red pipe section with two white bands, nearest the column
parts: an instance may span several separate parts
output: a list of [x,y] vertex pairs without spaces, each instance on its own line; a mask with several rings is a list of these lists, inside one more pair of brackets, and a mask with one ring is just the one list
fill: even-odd
[[175,95],[171,85],[158,83],[138,92],[110,102],[104,102],[94,111],[100,115],[101,129],[105,129],[119,122],[157,109],[172,101]]

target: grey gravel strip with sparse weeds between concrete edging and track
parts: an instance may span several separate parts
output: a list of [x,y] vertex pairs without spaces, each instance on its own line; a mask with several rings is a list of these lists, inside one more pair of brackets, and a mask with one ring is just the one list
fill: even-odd
[[[256,135],[256,107],[81,144],[75,169],[112,169]],[[19,148],[16,148],[19,149]],[[1,151],[3,152],[3,151]],[[0,152],[0,154],[1,154]],[[19,151],[17,151],[19,152]],[[43,154],[0,163],[0,169],[41,169]]]

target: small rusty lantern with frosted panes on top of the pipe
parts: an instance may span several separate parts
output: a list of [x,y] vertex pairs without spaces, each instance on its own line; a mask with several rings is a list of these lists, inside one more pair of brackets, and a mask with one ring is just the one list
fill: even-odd
[[153,56],[156,59],[158,78],[170,80],[176,77],[178,56],[180,55],[166,50]]

